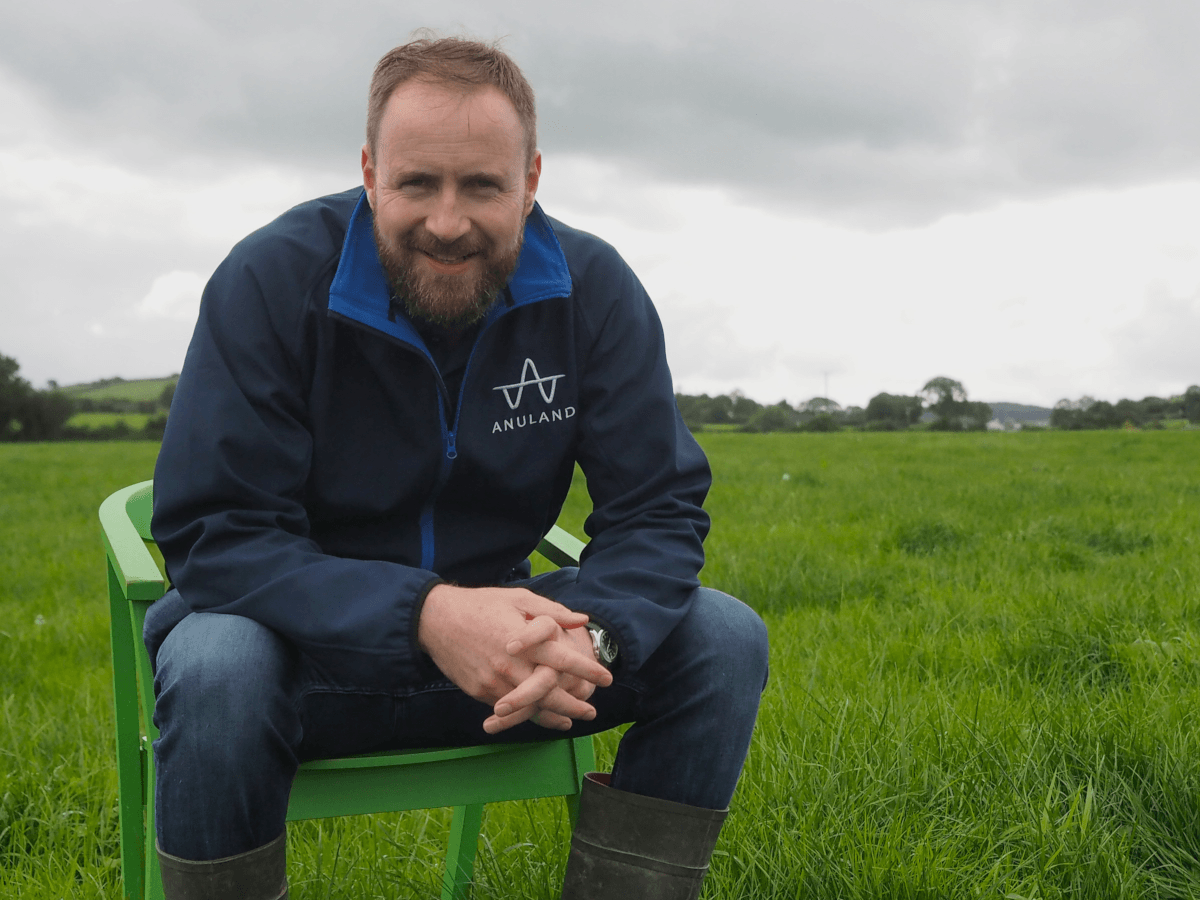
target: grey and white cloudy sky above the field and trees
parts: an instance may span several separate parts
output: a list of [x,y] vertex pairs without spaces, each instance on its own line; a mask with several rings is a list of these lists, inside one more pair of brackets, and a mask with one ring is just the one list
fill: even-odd
[[176,372],[229,247],[360,181],[420,26],[505,38],[539,199],[638,272],[677,390],[1200,383],[1195,0],[5,4],[0,353]]

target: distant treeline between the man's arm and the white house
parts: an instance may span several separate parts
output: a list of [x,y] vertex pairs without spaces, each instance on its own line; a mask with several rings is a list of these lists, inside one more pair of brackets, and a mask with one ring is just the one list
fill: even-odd
[[866,407],[842,407],[828,397],[812,397],[798,406],[780,401],[773,406],[756,403],[739,391],[709,397],[677,394],[676,402],[684,422],[692,431],[718,425],[737,431],[904,431],[930,414],[931,431],[983,431],[991,419],[991,406],[967,400],[961,382],[938,376],[925,383],[918,394],[876,394]]

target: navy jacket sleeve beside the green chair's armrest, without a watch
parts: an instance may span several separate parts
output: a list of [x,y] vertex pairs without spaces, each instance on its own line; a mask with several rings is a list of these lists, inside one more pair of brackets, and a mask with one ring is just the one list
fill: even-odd
[[346,684],[416,680],[438,578],[310,538],[312,284],[271,270],[268,298],[256,259],[235,250],[205,288],[155,467],[155,540],[193,611],[254,619]]

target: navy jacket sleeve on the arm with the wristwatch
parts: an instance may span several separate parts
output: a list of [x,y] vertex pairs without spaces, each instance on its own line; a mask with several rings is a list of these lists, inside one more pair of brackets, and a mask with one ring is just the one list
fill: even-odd
[[592,332],[577,458],[593,512],[578,580],[557,599],[616,632],[618,668],[636,671],[700,586],[712,475],[679,415],[662,326],[636,276],[610,248],[576,284]]

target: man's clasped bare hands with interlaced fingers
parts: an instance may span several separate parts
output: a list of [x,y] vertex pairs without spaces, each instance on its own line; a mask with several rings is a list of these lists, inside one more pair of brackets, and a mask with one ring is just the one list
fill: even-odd
[[575,719],[595,719],[587,701],[612,684],[587,622],[524,588],[438,584],[425,598],[416,640],[446,678],[492,704],[488,734],[527,719],[566,731]]

